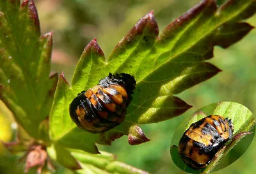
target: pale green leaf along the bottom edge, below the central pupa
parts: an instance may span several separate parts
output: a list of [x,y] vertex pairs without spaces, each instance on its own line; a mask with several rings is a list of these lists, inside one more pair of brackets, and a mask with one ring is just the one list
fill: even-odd
[[147,174],[122,162],[115,161],[115,156],[107,152],[101,154],[89,154],[81,150],[70,150],[71,154],[80,162],[83,169],[76,173],[125,173],[125,174]]

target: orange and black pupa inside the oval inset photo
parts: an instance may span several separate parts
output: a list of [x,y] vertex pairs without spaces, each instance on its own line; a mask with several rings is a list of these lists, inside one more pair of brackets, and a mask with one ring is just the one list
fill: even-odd
[[218,150],[232,139],[232,121],[219,115],[210,115],[190,125],[180,138],[178,153],[190,168],[205,168]]

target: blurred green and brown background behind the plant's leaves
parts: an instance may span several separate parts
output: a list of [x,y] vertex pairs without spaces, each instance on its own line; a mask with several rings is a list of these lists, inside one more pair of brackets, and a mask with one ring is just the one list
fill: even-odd
[[[223,1],[223,0],[222,0]],[[53,31],[54,47],[52,51],[52,72],[65,72],[70,82],[79,56],[90,40],[97,42],[107,57],[137,20],[154,10],[159,31],[186,12],[198,0],[37,0],[35,1],[40,17],[42,34]],[[221,2],[221,1],[220,1]],[[256,26],[256,15],[248,20]],[[150,141],[142,145],[131,146],[127,136],[116,139],[112,146],[100,146],[100,150],[112,152],[118,161],[125,162],[150,173],[185,173],[173,164],[170,157],[172,136],[179,124],[191,116],[194,111],[208,104],[220,101],[239,102],[256,111],[256,29],[243,40],[228,49],[214,48],[214,58],[209,62],[223,70],[212,79],[198,84],[178,95],[193,107],[184,115],[172,120],[150,125],[142,125]],[[1,120],[0,124],[11,122]],[[0,127],[7,132],[12,127]],[[10,135],[1,135],[8,141]],[[236,162],[215,173],[253,173],[256,171],[256,139]],[[0,173],[15,162],[10,154],[0,148]],[[3,155],[4,154],[4,155]],[[12,169],[13,171],[13,169]],[[21,170],[17,170],[19,173]],[[61,168],[58,173],[64,173]],[[66,171],[70,173],[70,171]],[[13,173],[15,173],[13,171]]]

